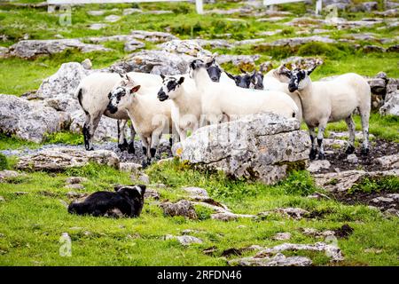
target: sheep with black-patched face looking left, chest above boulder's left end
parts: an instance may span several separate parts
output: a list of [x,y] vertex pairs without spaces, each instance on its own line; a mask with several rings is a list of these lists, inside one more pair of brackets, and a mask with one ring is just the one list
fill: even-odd
[[200,92],[194,80],[187,75],[164,76],[162,87],[158,91],[158,99],[172,101],[172,122],[180,140],[187,138],[187,130],[196,130],[201,115]]

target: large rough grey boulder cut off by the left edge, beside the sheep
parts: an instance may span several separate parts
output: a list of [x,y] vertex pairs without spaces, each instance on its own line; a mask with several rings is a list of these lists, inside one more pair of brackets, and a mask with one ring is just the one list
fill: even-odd
[[39,102],[0,94],[0,132],[41,143],[47,134],[61,130],[56,110]]

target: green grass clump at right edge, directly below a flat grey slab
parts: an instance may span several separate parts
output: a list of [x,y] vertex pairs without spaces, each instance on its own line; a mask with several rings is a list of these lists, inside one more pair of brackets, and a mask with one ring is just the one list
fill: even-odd
[[364,177],[359,183],[353,185],[348,193],[379,193],[380,191],[398,192],[399,177]]

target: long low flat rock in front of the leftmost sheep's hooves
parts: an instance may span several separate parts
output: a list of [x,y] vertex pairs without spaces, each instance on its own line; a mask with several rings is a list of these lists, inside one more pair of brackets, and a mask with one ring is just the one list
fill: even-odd
[[59,171],[82,167],[89,162],[107,165],[119,169],[119,158],[112,151],[85,151],[74,148],[52,148],[20,157],[16,168],[19,170]]

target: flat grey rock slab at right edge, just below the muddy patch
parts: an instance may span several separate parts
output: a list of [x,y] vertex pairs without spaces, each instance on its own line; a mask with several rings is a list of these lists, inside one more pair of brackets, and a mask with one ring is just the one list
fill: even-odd
[[353,185],[359,183],[364,177],[386,177],[397,176],[399,170],[371,171],[364,170],[347,170],[340,172],[329,172],[325,174],[317,174],[313,177],[317,186],[325,188],[329,192],[347,191]]

